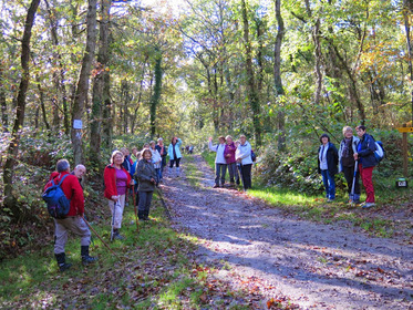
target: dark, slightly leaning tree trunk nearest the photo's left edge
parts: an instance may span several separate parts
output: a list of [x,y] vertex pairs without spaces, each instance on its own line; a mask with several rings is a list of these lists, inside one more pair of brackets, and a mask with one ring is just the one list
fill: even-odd
[[22,75],[19,86],[19,93],[17,97],[17,110],[16,110],[16,121],[11,133],[11,142],[8,148],[8,157],[4,164],[3,182],[4,182],[4,206],[11,209],[14,219],[19,219],[22,210],[16,204],[16,198],[13,197],[13,177],[14,177],[14,163],[19,154],[19,143],[21,128],[24,123],[24,111],[25,111],[25,96],[30,82],[29,74],[29,61],[30,61],[30,39],[31,31],[34,23],[35,12],[38,10],[40,0],[32,0],[28,10],[24,22],[23,38],[21,41],[21,68]]

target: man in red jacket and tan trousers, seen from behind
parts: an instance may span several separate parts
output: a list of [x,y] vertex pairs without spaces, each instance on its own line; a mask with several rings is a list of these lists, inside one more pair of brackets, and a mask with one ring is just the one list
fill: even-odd
[[[65,175],[68,176],[62,182],[61,188],[66,198],[70,200],[70,210],[65,218],[54,218],[54,256],[56,258],[60,271],[64,271],[72,266],[72,264],[66,262],[64,252],[69,231],[72,231],[81,237],[82,264],[89,265],[97,260],[97,258],[89,256],[91,231],[82,218],[84,214],[83,189],[78,177],[70,174],[69,162],[66,159],[60,159],[56,163],[56,172],[51,174],[50,179],[53,179],[54,183],[58,184]],[[45,185],[44,189],[49,187],[50,183]]]

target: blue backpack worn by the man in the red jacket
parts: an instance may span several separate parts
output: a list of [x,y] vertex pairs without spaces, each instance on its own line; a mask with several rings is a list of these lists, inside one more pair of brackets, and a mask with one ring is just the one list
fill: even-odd
[[61,184],[68,175],[63,176],[59,184],[55,184],[54,179],[51,179],[49,183],[52,185],[47,188],[42,195],[43,200],[47,203],[49,214],[54,218],[65,218],[70,210],[70,200],[66,198],[61,187]]

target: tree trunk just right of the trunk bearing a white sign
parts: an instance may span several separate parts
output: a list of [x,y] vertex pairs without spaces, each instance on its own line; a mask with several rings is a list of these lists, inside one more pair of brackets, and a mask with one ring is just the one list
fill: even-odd
[[94,78],[93,97],[92,97],[92,115],[91,115],[91,148],[90,161],[99,166],[101,158],[101,127],[102,127],[102,105],[106,100],[107,93],[104,92],[105,85],[110,84],[110,72],[106,71],[109,64],[109,32],[110,32],[110,11],[112,0],[102,0],[101,3],[101,22],[100,22],[100,39],[97,63],[99,72]]

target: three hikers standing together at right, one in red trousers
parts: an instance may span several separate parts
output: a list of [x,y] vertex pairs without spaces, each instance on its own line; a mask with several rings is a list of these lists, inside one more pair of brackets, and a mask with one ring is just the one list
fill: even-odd
[[363,208],[371,208],[375,206],[372,175],[378,165],[374,156],[376,145],[374,138],[366,133],[365,126],[357,126],[355,132],[358,136],[353,135],[353,130],[350,126],[343,127],[343,140],[339,151],[330,142],[328,134],[320,136],[318,170],[322,176],[329,203],[335,199],[334,176],[342,172],[348,184],[349,203],[360,204],[359,178],[361,176],[366,195],[365,202],[361,205]]

